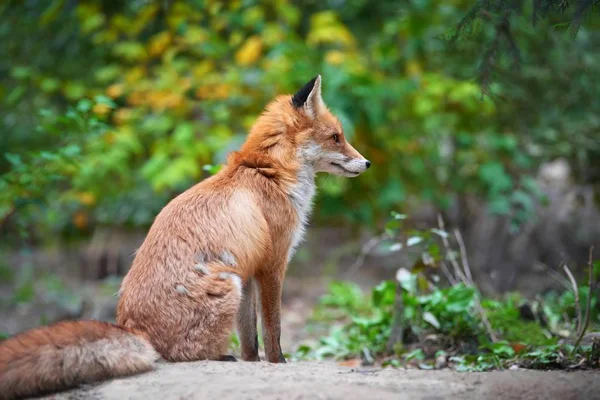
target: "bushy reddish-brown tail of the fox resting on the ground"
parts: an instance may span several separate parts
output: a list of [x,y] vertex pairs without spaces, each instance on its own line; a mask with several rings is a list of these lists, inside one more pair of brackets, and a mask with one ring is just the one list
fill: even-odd
[[36,328],[0,342],[0,400],[138,374],[158,358],[145,338],[106,322]]

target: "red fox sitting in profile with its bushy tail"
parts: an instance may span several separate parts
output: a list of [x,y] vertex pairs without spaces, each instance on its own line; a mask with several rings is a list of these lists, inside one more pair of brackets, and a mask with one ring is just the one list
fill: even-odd
[[[315,174],[355,177],[371,162],[344,137],[321,97],[321,76],[278,96],[222,170],[156,217],[119,291],[117,325],[61,322],[0,343],[0,399],[56,392],[151,370],[167,361],[286,362],[281,287],[302,240]],[[260,306],[258,306],[260,305]]]

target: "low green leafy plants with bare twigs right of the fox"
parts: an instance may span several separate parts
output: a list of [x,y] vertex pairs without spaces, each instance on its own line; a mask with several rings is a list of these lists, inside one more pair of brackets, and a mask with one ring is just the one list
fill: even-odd
[[[405,234],[404,219],[392,213],[386,234],[391,251],[415,246],[422,253],[412,272],[399,269],[395,281],[381,282],[370,295],[353,283],[332,282],[313,314],[313,323],[331,326],[330,332],[314,346],[301,346],[295,357],[359,358],[394,366],[416,362],[424,369],[433,368],[442,357],[444,365],[449,361],[456,369],[469,371],[515,364],[600,367],[600,343],[574,348],[582,321],[575,316],[571,292],[548,293],[536,300],[517,293],[482,298],[467,267],[456,259],[450,235],[440,229]],[[444,251],[436,238],[445,239]],[[442,283],[439,275],[445,263],[462,271],[457,282],[445,272],[448,283]],[[589,288],[581,287],[583,310],[588,295]],[[593,299],[588,328],[596,326],[600,326],[600,313]]]

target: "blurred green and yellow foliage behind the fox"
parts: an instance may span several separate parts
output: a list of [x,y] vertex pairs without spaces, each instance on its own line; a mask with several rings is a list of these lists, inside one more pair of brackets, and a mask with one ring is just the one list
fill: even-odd
[[447,40],[471,5],[4,2],[0,221],[44,238],[146,227],[218,169],[270,99],[321,73],[374,168],[322,179],[317,221],[372,225],[392,208],[471,193],[519,223],[539,195],[540,162],[566,157],[578,181],[598,178],[600,21],[590,16],[573,39],[562,17],[533,28],[515,16],[521,68],[499,53],[483,96],[493,24]]

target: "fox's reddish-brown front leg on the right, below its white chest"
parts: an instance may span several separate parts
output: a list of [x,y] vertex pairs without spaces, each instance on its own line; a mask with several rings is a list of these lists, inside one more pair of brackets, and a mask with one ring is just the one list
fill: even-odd
[[281,352],[281,276],[265,273],[257,276],[260,301],[262,307],[263,341],[267,361],[272,363],[285,363]]

